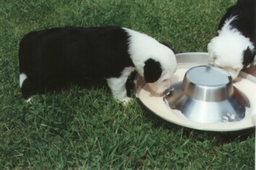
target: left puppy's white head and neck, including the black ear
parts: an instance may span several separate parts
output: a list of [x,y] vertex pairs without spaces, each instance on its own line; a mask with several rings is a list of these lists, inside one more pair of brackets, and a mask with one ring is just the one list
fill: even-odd
[[176,72],[173,50],[154,38],[125,28],[130,36],[128,53],[139,75],[144,77],[153,93],[162,94],[170,88],[170,77]]

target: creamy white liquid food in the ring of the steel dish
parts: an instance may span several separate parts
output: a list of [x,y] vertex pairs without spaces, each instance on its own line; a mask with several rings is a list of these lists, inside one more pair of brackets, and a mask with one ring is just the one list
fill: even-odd
[[[183,80],[186,71],[198,64],[182,64],[178,66],[176,73],[171,78],[172,83],[180,82]],[[166,119],[175,124],[181,124],[185,127],[192,127],[194,129],[209,129],[216,131],[228,131],[234,129],[246,129],[248,127],[255,126],[256,119],[256,84],[244,78],[239,77],[234,83],[234,86],[241,90],[250,102],[250,108],[247,108],[245,117],[239,122],[218,122],[212,124],[202,124],[197,122],[192,122],[187,119],[181,111],[176,109],[170,109],[168,104],[163,100],[163,96],[154,96],[151,94],[151,90],[148,85],[141,88],[139,93],[140,100],[147,106],[151,111],[153,111],[162,119]]]

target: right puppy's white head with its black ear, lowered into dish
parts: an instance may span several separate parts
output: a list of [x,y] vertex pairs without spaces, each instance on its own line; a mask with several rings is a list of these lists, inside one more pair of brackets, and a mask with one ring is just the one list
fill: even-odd
[[248,67],[255,57],[255,48],[249,38],[241,33],[222,33],[207,46],[209,61],[215,67],[225,69],[233,80],[244,67]]

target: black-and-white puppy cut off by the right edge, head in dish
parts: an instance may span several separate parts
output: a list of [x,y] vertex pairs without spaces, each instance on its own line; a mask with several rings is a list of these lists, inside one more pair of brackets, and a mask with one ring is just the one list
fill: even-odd
[[210,64],[225,69],[233,80],[255,62],[255,14],[255,0],[238,0],[220,20],[218,36],[208,44]]

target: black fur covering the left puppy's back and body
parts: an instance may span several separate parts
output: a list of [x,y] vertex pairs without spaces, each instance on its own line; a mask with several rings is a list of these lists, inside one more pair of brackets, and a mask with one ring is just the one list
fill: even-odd
[[128,33],[122,27],[59,27],[25,35],[20,42],[20,73],[28,78],[22,96],[44,93],[87,77],[120,77],[134,67],[128,54]]

